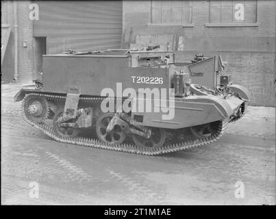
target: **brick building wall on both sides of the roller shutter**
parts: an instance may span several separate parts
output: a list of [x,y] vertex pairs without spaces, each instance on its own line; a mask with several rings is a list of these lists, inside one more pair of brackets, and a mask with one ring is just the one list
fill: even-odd
[[[16,1],[18,23],[18,77],[21,83],[33,79],[32,1]],[[275,1],[258,0],[258,27],[206,27],[209,1],[193,1],[192,27],[158,26],[151,22],[151,1],[123,1],[122,47],[136,43],[139,34],[173,34],[176,59],[189,61],[195,53],[220,54],[227,62],[226,73],[246,86],[252,105],[275,106]],[[1,1],[1,23],[11,27],[10,40],[1,66],[2,81],[14,79],[14,1]],[[162,39],[162,38],[161,38]],[[23,47],[23,43],[27,47]]]

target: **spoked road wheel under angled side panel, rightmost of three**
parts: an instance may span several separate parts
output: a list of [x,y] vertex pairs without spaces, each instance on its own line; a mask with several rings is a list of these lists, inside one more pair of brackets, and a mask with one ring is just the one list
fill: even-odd
[[164,144],[166,135],[164,129],[151,127],[150,138],[134,135],[132,139],[134,143],[141,148],[159,148]]

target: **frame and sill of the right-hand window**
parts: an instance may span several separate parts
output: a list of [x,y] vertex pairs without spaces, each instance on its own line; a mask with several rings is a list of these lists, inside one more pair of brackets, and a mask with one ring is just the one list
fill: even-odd
[[[234,22],[231,23],[211,23],[211,1],[209,1],[209,22],[205,23],[205,27],[258,27],[260,24],[258,23],[258,0],[256,1],[256,19],[255,22]],[[222,2],[223,0],[220,0]],[[232,18],[234,15],[234,5],[232,0]],[[220,9],[222,8],[222,5]]]

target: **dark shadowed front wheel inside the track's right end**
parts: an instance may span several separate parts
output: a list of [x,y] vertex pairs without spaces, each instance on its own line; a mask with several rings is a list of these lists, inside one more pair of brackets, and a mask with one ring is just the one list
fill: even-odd
[[197,125],[194,127],[190,127],[190,131],[192,131],[192,133],[198,138],[208,138],[216,133],[217,126],[217,122]]

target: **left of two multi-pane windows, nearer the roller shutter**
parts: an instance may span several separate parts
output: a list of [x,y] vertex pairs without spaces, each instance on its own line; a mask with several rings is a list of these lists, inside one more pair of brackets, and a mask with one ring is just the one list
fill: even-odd
[[151,23],[192,23],[192,1],[151,1]]

